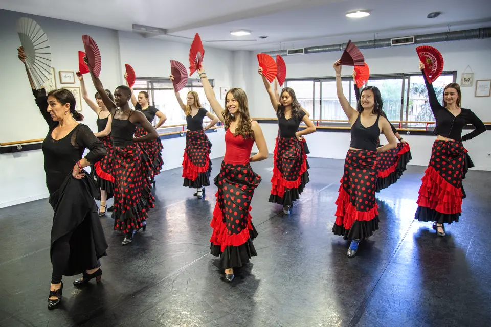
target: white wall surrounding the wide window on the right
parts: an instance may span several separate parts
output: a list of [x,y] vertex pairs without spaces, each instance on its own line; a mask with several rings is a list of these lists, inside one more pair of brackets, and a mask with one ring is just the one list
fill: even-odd
[[[474,80],[491,79],[491,39],[465,40],[449,43],[435,43],[435,46],[444,59],[445,71],[457,71],[457,82],[460,83],[460,74],[470,65],[474,72]],[[367,49],[363,55],[370,65],[371,74],[415,73],[418,72],[419,59],[413,46],[396,46],[393,48]],[[341,52],[328,52],[300,56],[284,57],[287,69],[287,78],[311,78],[334,76],[332,64],[338,60]],[[251,71],[257,69],[257,58],[251,54]],[[351,75],[350,67],[343,67],[343,75]],[[252,79],[252,94],[254,95],[251,115],[255,117],[274,117],[269,97],[259,75]],[[491,98],[474,97],[475,87],[462,87],[463,107],[473,110],[482,121],[491,121]],[[250,92],[251,94],[251,92]],[[251,97],[250,97],[251,98]],[[278,127],[274,124],[261,124],[268,141],[268,150],[274,150],[274,138]],[[470,132],[464,130],[463,134]],[[427,166],[431,146],[435,136],[401,135],[411,146],[413,160],[410,164]],[[381,142],[385,142],[381,136]],[[311,156],[344,159],[349,147],[350,134],[341,132],[317,132],[306,137]],[[384,139],[384,141],[382,141]],[[474,169],[491,170],[491,132],[464,142],[474,164]],[[256,149],[257,151],[257,149]]]

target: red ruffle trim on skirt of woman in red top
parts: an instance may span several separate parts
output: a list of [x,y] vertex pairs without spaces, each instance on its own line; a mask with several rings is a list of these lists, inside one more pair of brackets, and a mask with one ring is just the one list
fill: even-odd
[[[215,196],[218,197],[218,192],[215,194]],[[210,223],[211,228],[213,228],[210,242],[214,245],[219,245],[221,252],[225,252],[225,248],[227,246],[240,246],[245,244],[245,242],[247,242],[247,240],[250,238],[249,230],[252,230],[252,217],[249,213],[250,210],[251,206],[249,206],[247,212],[247,228],[242,229],[238,234],[233,234],[227,229],[227,224],[223,221],[224,216],[220,210],[220,207],[218,206],[217,201],[215,209],[213,210],[213,218]]]

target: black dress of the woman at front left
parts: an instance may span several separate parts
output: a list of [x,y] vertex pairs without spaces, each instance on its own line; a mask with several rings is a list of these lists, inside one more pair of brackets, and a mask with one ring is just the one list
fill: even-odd
[[101,160],[106,155],[106,149],[90,128],[83,124],[78,124],[65,137],[53,139],[51,134],[59,123],[53,121],[47,111],[46,91],[33,90],[33,94],[49,126],[48,135],[42,142],[42,152],[46,185],[50,192],[49,203],[55,211],[50,257],[53,262],[56,241],[71,233],[70,257],[63,275],[73,276],[97,267],[98,259],[106,255],[107,243],[94,201],[98,190],[88,174],[82,179],[75,179],[72,170],[82,158],[85,148],[90,150],[85,159],[91,164]]

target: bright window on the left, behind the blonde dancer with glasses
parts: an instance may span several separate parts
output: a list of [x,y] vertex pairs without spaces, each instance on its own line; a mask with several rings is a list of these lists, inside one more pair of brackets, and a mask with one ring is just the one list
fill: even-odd
[[[214,81],[210,80],[210,84],[211,86],[214,86]],[[211,107],[206,99],[203,84],[201,84],[200,80],[188,79],[186,87],[179,91],[183,102],[186,103],[186,95],[191,90],[197,92],[203,108],[210,111]],[[139,77],[135,81],[135,85],[133,85],[133,92],[135,92],[135,95],[138,97],[138,94],[141,91],[147,91],[150,104],[167,116],[167,121],[163,126],[186,124],[186,116],[175,98],[174,87],[170,79]],[[204,122],[209,120],[209,118],[205,118]],[[155,117],[153,123],[156,123],[157,121],[158,118]],[[176,128],[176,130],[178,130],[178,128]]]

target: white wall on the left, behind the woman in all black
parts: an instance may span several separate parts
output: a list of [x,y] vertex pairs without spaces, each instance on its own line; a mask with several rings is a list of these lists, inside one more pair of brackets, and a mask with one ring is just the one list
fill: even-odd
[[[124,83],[125,63],[135,69],[137,76],[167,77],[170,74],[171,59],[181,61],[184,65],[189,62],[190,44],[145,39],[132,33],[0,10],[0,67],[3,76],[0,88],[4,93],[4,105],[0,107],[0,142],[43,138],[48,132],[34,103],[24,66],[17,59],[20,41],[16,21],[20,17],[33,18],[48,35],[57,87],[63,85],[59,83],[59,70],[78,70],[78,51],[83,51],[83,34],[90,35],[99,46],[102,57],[100,79],[109,89]],[[215,80],[219,98],[220,86],[232,84],[233,53],[209,48],[205,50],[205,65],[210,72],[209,77]],[[64,85],[80,86],[78,80],[75,85]],[[96,90],[90,81],[86,81],[86,86],[89,95],[95,94]],[[85,116],[83,123],[97,130],[96,114],[83,100],[81,104]],[[224,130],[218,129],[218,132],[207,135],[213,144],[212,158],[224,156]],[[166,139],[163,145],[164,170],[180,167],[185,138]],[[0,155],[0,207],[48,197],[43,162],[41,150]]]

